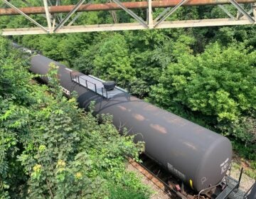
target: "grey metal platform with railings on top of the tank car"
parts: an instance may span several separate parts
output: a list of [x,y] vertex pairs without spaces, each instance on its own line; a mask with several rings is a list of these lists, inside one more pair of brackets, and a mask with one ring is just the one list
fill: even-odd
[[96,92],[98,95],[102,95],[103,97],[106,97],[107,99],[110,99],[114,97],[114,95],[122,94],[124,92],[127,92],[126,90],[123,90],[120,87],[114,87],[113,90],[105,90],[104,85],[102,84],[105,82],[104,80],[100,80],[97,77],[94,77],[92,75],[80,75],[72,77],[72,80],[74,82],[77,82],[79,85],[82,85],[83,87],[86,87],[89,90],[92,90],[93,92]]

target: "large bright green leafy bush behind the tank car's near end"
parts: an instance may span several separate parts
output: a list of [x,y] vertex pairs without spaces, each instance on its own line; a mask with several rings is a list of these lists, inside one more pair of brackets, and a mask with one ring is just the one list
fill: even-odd
[[213,43],[200,55],[185,53],[152,86],[150,99],[174,112],[199,114],[223,134],[252,143],[255,58],[256,53],[242,44],[223,48]]

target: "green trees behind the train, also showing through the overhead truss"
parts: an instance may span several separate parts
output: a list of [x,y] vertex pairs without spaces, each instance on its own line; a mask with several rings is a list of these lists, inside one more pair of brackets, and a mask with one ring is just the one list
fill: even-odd
[[[75,1],[65,0],[63,4],[75,4]],[[226,9],[235,16],[233,6]],[[135,12],[145,16],[142,11]],[[155,9],[154,14],[159,12],[161,9]],[[85,12],[75,25],[112,23],[113,14],[119,22],[132,21],[123,11]],[[224,18],[225,14],[218,6],[182,7],[171,19],[212,16]],[[34,18],[46,21],[41,16]],[[29,23],[21,16],[6,16],[1,17],[0,24],[0,28],[11,28]],[[15,36],[14,39],[71,68],[115,80],[133,95],[228,136],[233,149],[249,159],[255,171],[255,31],[256,26],[230,26]]]

